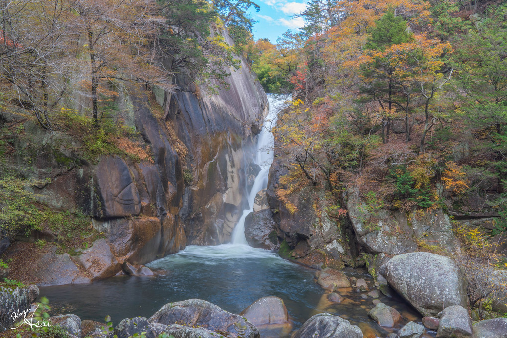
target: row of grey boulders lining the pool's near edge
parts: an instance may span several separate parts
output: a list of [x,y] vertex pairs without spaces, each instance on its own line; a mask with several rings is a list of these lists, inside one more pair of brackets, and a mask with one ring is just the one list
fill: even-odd
[[[333,276],[333,277],[331,277]],[[434,336],[441,338],[482,338],[482,337],[505,337],[507,336],[507,318],[495,318],[489,320],[472,321],[465,308],[459,305],[451,305],[433,316],[423,317],[421,321],[404,318],[392,307],[381,303],[373,287],[365,280],[352,278],[351,282],[340,273],[323,271],[317,274],[317,281],[328,288],[326,298],[329,303],[346,302],[345,294],[351,285],[359,292],[367,292],[368,298],[372,299],[372,307],[368,315],[385,328],[391,328],[392,333],[380,335],[382,338],[421,338]],[[334,280],[329,284],[325,282]],[[16,313],[18,318],[14,321],[11,316],[0,317],[0,337],[11,338],[18,334],[21,337],[32,336],[34,332],[42,330],[30,328],[28,322],[33,321],[30,311],[30,303],[37,297],[39,290],[35,286],[19,287],[6,292],[4,288],[0,292],[2,301],[2,314]],[[31,311],[37,308],[31,307]],[[42,313],[37,313],[41,315]],[[11,329],[14,322],[27,318],[24,325],[17,329]],[[351,318],[353,319],[353,318]],[[275,338],[269,332],[291,331],[292,323],[282,299],[278,297],[263,297],[253,302],[239,314],[233,314],[220,307],[202,301],[200,299],[188,299],[182,302],[168,303],[154,313],[150,318],[135,317],[125,318],[116,326],[112,322],[95,322],[81,320],[73,314],[58,315],[49,318],[41,317],[41,321],[49,326],[47,337],[52,338],[111,338],[144,336],[148,338],[166,337],[174,338],[216,338],[244,337],[244,338]],[[394,329],[394,327],[396,327]],[[271,330],[271,331],[270,331]],[[143,333],[144,332],[144,333]],[[265,332],[264,334],[261,334]],[[268,334],[266,334],[268,332]],[[167,335],[164,335],[167,334]],[[353,325],[349,320],[331,313],[318,313],[309,318],[301,327],[292,333],[292,338],[374,338],[379,335],[368,325]]]

